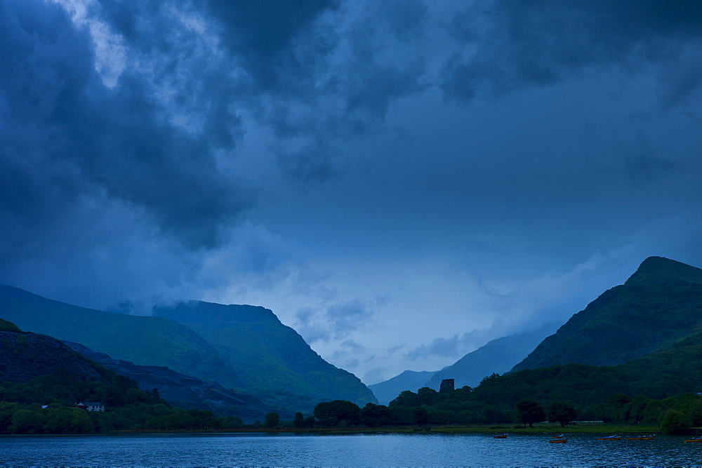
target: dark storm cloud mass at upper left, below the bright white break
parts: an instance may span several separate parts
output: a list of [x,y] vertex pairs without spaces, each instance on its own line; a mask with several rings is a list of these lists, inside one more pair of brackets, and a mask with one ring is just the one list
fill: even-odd
[[[193,248],[213,246],[219,227],[251,206],[213,159],[218,143],[231,140],[216,138],[219,129],[197,134],[169,123],[166,109],[135,74],[125,72],[119,86],[107,88],[95,72],[88,37],[60,7],[6,2],[1,21],[0,67],[11,70],[0,81],[4,163],[19,158],[42,173],[72,166],[74,190],[101,187],[143,208],[164,232]],[[213,114],[217,120],[219,109]],[[236,131],[237,119],[229,117]],[[29,182],[15,196],[61,203],[64,197],[51,192],[65,194],[66,184],[61,178],[48,186]],[[21,212],[32,217],[41,209],[60,212],[60,206]]]

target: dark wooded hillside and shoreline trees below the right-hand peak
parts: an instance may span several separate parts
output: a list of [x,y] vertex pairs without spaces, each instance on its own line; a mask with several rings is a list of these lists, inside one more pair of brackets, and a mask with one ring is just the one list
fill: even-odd
[[296,417],[293,426],[533,424],[544,420],[567,424],[576,418],[660,424],[668,432],[702,425],[702,396],[694,393],[702,384],[702,375],[691,372],[689,365],[670,366],[670,359],[656,359],[621,366],[568,364],[493,374],[475,388],[406,390],[388,406],[369,403],[359,408],[348,401],[324,402],[314,408],[314,415]]

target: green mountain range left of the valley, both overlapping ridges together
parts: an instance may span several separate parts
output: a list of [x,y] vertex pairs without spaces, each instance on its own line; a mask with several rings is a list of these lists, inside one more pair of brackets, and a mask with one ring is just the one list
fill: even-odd
[[22,330],[79,343],[112,359],[218,382],[252,394],[270,409],[310,412],[319,401],[344,399],[362,406],[377,401],[355,375],[326,363],[263,307],[183,302],[157,309],[157,315],[86,309],[0,285],[0,317]]

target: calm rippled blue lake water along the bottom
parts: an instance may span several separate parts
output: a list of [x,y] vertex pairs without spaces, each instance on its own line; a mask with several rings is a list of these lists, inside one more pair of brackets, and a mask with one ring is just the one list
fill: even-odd
[[112,466],[699,466],[682,437],[599,441],[487,434],[180,434],[3,436],[0,465]]

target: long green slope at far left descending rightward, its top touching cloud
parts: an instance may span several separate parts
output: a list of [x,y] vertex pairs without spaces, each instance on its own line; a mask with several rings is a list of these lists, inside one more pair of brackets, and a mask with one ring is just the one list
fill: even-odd
[[243,380],[208,342],[187,326],[164,317],[113,314],[49,300],[0,285],[0,316],[22,330],[77,342],[114,359],[166,366],[202,380],[226,377],[227,387]]

